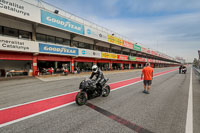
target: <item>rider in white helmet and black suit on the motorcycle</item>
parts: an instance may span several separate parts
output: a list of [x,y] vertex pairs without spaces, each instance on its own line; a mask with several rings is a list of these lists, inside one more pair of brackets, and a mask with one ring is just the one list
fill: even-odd
[[97,67],[97,65],[92,66],[92,74],[90,76],[90,79],[93,77],[96,77],[94,85],[97,87],[97,91],[100,91],[100,94],[102,93],[102,88],[103,88],[103,82],[105,81],[103,72]]

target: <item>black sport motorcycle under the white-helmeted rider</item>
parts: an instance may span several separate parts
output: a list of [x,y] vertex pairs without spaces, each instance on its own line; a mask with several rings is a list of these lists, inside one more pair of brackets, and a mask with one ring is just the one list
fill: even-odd
[[94,80],[83,80],[80,83],[79,89],[80,92],[76,95],[76,103],[78,105],[84,105],[88,99],[92,99],[95,97],[103,96],[107,97],[110,94],[110,86],[106,84],[109,79],[105,79],[101,85],[102,88],[97,87],[94,84]]

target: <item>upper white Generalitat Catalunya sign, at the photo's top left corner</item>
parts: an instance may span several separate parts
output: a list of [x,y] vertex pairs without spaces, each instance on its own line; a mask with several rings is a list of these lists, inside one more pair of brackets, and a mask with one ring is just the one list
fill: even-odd
[[40,9],[21,0],[0,0],[0,12],[40,23]]

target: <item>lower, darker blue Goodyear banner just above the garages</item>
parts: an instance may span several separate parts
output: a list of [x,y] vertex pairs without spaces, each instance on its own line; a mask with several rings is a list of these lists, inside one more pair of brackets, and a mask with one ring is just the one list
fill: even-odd
[[70,48],[59,45],[50,45],[39,43],[39,50],[41,53],[62,54],[62,55],[75,55],[78,56],[77,48]]

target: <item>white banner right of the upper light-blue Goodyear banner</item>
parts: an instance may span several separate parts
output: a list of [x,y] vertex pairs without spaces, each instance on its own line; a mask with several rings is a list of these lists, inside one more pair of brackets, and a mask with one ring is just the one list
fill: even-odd
[[84,29],[85,29],[85,32],[84,32],[85,36],[107,42],[108,35],[106,33],[98,31],[88,26],[84,26]]

